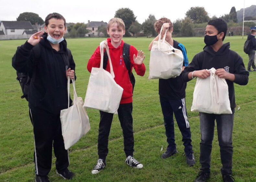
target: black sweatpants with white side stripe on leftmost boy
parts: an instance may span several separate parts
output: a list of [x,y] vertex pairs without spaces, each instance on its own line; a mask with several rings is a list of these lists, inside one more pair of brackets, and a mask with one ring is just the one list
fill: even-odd
[[62,137],[60,115],[38,113],[29,109],[29,117],[34,130],[35,174],[46,176],[52,167],[52,145],[56,157],[56,169],[64,170],[69,166],[68,151]]

